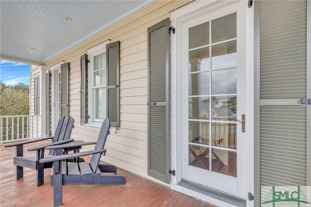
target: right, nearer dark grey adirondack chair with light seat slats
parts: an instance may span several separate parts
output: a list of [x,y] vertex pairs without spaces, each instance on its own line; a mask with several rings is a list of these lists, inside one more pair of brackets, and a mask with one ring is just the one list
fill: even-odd
[[[47,147],[46,149],[55,149],[56,156],[40,159],[41,163],[53,162],[51,173],[51,185],[54,193],[54,206],[62,205],[62,185],[104,185],[104,184],[125,184],[125,177],[122,175],[111,174],[117,173],[116,166],[99,164],[101,155],[105,155],[106,149],[104,144],[110,128],[110,121],[106,118],[102,124],[95,149],[93,151],[73,153],[62,155],[62,147],[66,145],[55,145]],[[90,162],[66,162],[62,160],[92,155]],[[80,168],[80,171],[79,171]],[[102,174],[110,173],[110,174]]]

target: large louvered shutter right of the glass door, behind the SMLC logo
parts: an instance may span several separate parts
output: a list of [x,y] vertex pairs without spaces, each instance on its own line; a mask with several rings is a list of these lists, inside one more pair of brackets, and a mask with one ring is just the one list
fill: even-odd
[[307,20],[306,0],[260,0],[260,187],[311,185]]

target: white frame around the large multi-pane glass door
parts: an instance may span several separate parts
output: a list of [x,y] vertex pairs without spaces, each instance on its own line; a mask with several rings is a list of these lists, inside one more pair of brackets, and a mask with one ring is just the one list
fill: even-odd
[[[219,8],[222,8],[231,3],[238,2],[238,0],[232,1],[195,1],[186,5],[174,12],[171,13],[171,24],[175,28],[176,33],[171,36],[171,168],[175,169],[176,176],[172,176],[171,179],[171,187],[174,190],[178,190],[184,193],[187,193],[196,198],[205,200],[209,203],[218,205],[218,206],[228,206],[227,203],[208,197],[206,195],[200,194],[193,190],[186,189],[184,187],[178,186],[178,182],[182,179],[182,160],[181,160],[181,149],[182,144],[181,140],[181,119],[182,119],[182,108],[184,108],[183,104],[179,100],[181,98],[180,88],[182,86],[181,79],[181,68],[180,65],[180,42],[181,42],[181,24],[182,22],[188,21],[194,17],[199,17],[203,14],[207,14],[208,12],[215,11]],[[254,7],[248,8],[247,1],[240,1],[241,3],[245,3],[245,24],[246,24],[246,34],[245,42],[245,67],[246,74],[245,75],[245,86],[246,86],[246,108],[244,112],[246,114],[245,124],[246,131],[245,137],[249,138],[249,144],[254,146]],[[243,112],[243,113],[244,113]],[[240,119],[240,118],[238,118]],[[238,124],[238,127],[240,125]],[[244,149],[247,155],[247,158],[244,159],[247,162],[247,173],[244,173],[243,176],[246,177],[245,180],[248,182],[244,182],[242,185],[239,185],[240,192],[243,194],[239,194],[240,197],[247,198],[247,193],[251,192],[254,194],[254,149],[246,148]],[[245,169],[242,169],[245,172]],[[253,201],[247,200],[247,206],[253,206]]]

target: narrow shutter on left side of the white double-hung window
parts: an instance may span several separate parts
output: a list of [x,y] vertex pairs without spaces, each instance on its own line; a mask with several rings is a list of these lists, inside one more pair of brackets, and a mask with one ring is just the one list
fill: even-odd
[[81,90],[80,90],[80,123],[87,122],[87,96],[86,96],[86,72],[87,72],[87,56],[86,54],[80,57],[80,78],[81,78]]

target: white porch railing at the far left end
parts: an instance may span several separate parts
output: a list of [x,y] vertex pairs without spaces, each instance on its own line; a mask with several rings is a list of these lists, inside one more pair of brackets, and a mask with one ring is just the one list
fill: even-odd
[[0,116],[0,144],[40,138],[40,115]]

